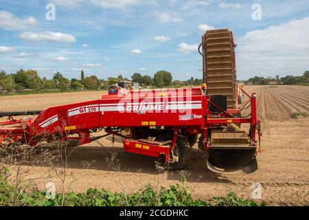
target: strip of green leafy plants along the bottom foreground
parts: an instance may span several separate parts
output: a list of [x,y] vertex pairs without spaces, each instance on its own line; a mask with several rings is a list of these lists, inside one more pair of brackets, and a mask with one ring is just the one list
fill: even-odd
[[48,199],[45,191],[33,188],[16,188],[8,182],[9,172],[0,171],[0,206],[265,206],[266,203],[256,203],[240,199],[229,192],[226,197],[214,197],[203,201],[192,199],[185,182],[161,187],[155,190],[148,185],[137,192],[126,195],[124,192],[89,189],[85,193],[69,192],[62,199],[57,194],[54,199]]

